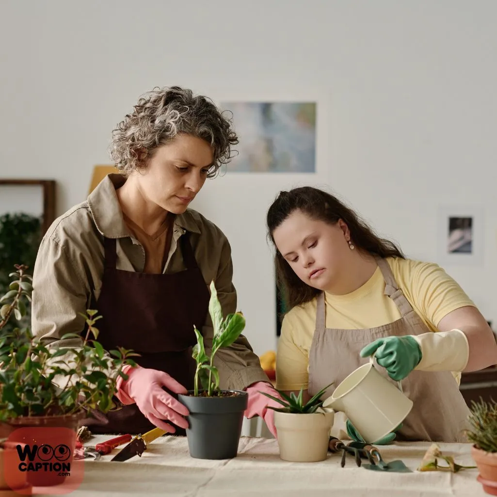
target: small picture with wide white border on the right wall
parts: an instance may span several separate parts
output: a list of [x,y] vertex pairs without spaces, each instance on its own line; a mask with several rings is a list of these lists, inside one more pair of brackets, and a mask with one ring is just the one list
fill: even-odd
[[440,206],[437,222],[440,264],[483,264],[483,217],[481,206]]

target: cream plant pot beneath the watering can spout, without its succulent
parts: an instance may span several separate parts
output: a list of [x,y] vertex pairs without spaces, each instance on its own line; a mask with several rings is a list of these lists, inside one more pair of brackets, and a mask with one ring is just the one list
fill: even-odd
[[324,461],[334,413],[274,413],[280,458],[293,462]]

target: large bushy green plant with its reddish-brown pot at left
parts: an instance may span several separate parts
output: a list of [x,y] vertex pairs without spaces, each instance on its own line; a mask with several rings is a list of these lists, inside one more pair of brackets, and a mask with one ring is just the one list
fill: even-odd
[[[34,445],[48,444],[55,452],[55,447],[64,446],[59,449],[66,451],[64,458],[55,453],[51,456],[54,461],[63,459],[70,464],[81,420],[88,415],[87,410],[106,412],[114,407],[117,378],[127,378],[122,368],[135,365],[129,357],[136,354],[122,348],[105,353],[96,341],[94,325],[99,316],[92,310],[85,315],[87,332],[79,349],[49,349],[29,328],[7,328],[12,317],[22,321],[31,302],[32,278],[26,266],[15,268],[9,291],[0,299],[0,437],[19,443],[31,437],[30,450]],[[70,333],[62,338],[74,336],[79,335]],[[35,466],[40,457],[47,461],[50,456],[36,450],[33,454],[34,459],[29,460]],[[65,475],[59,473],[49,469],[30,472],[27,467],[28,482],[37,486],[63,483]]]

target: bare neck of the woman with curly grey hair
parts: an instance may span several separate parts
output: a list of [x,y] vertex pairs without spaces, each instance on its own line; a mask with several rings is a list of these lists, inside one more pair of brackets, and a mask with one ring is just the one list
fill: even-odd
[[116,194],[123,213],[145,233],[152,236],[166,221],[169,212],[143,194],[134,176],[129,176]]

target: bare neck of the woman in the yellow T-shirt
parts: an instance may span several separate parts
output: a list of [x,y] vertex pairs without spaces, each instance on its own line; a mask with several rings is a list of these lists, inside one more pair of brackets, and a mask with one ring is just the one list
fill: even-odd
[[350,260],[343,264],[343,269],[334,284],[326,289],[332,295],[347,295],[364,285],[378,268],[373,255],[359,250],[350,253]]

